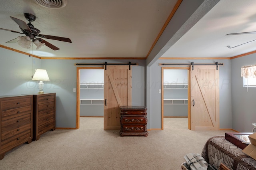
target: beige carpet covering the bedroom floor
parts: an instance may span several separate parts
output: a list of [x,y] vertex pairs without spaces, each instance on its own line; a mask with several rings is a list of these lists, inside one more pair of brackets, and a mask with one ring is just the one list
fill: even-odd
[[184,155],[200,153],[208,138],[225,131],[188,130],[187,118],[164,118],[164,130],[119,136],[103,118],[80,118],[80,129],[50,131],[8,152],[1,170],[180,170]]

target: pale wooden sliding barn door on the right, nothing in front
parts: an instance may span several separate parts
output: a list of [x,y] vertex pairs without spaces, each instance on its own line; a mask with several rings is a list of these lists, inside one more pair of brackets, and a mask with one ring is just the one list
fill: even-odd
[[216,65],[190,67],[191,130],[219,130],[219,71]]

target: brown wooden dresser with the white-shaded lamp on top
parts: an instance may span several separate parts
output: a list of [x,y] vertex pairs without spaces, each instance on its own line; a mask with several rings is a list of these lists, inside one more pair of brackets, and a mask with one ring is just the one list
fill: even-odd
[[56,93],[36,94],[34,96],[33,140],[42,134],[55,130]]

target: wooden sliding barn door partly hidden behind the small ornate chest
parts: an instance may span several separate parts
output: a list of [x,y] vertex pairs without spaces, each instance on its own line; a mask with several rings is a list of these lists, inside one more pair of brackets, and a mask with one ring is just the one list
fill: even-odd
[[132,103],[132,67],[108,65],[104,70],[104,130],[120,129],[120,106]]

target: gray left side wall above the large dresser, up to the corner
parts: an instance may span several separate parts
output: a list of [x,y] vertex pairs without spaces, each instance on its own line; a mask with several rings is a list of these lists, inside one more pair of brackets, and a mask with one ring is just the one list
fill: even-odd
[[40,59],[4,48],[0,48],[0,53],[0,95],[37,93],[38,82],[31,76],[34,69],[41,68]]

